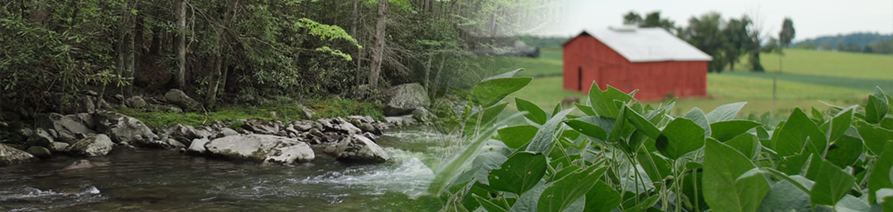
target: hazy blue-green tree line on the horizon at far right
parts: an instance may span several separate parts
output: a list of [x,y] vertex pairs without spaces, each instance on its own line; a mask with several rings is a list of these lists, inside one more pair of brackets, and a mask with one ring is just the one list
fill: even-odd
[[848,35],[816,37],[801,41],[794,47],[850,53],[893,53],[893,35],[859,32]]

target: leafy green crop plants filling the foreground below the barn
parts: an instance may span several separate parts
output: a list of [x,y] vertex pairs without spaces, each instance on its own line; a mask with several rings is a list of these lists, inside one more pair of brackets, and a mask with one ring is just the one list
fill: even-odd
[[[479,135],[472,143],[480,135],[505,143],[507,152],[497,154],[511,157],[439,169],[438,176],[489,174],[488,180],[435,183],[432,188],[468,189],[431,194],[476,203],[445,211],[864,211],[883,207],[893,191],[893,131],[882,127],[887,116],[872,124],[855,106],[833,106],[813,118],[797,109],[768,126],[756,116],[736,119],[744,102],[680,118],[663,113],[672,104],[643,106],[631,95],[593,90],[586,104],[552,112],[516,99],[519,109],[539,115],[527,114],[526,123],[502,127],[498,136],[488,136],[488,127],[466,133]],[[585,115],[569,115],[575,109]],[[455,159],[493,154],[464,152]]]

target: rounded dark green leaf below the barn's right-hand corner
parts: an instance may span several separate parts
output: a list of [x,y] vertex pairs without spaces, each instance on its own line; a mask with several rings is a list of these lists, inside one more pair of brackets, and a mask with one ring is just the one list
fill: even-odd
[[663,156],[679,159],[704,147],[704,128],[687,118],[673,119],[655,139],[655,147]]

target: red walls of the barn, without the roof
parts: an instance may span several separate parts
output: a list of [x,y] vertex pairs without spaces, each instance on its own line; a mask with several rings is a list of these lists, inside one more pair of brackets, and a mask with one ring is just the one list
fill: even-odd
[[680,98],[707,94],[707,61],[630,62],[588,34],[563,45],[563,61],[564,90],[588,94],[596,81],[602,90],[607,86],[625,93],[638,89],[639,101],[659,101],[671,94]]

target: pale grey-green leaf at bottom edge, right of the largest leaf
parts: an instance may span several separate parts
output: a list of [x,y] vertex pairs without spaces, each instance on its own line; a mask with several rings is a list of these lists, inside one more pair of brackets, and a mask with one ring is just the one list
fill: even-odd
[[[812,182],[799,175],[792,175],[790,178],[803,181],[803,186],[812,187]],[[797,182],[794,182],[797,183]],[[757,209],[760,212],[775,211],[813,211],[812,205],[809,203],[809,194],[797,188],[797,185],[782,180],[772,184],[772,189],[766,193],[763,198],[763,204]]]

